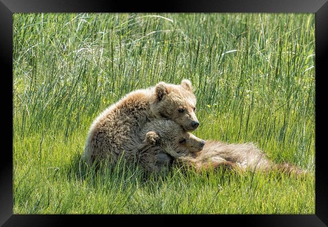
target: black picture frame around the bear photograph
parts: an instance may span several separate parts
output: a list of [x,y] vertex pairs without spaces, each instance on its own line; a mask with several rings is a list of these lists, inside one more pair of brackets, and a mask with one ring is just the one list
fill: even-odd
[[[154,2],[155,3],[155,2]],[[214,221],[216,224],[250,224],[252,226],[326,226],[328,224],[328,187],[327,187],[327,168],[324,158],[324,73],[327,61],[328,48],[328,2],[327,0],[230,0],[230,1],[180,1],[180,2],[160,2],[155,4],[142,4],[139,1],[112,2],[112,1],[65,1],[65,0],[0,0],[0,55],[3,65],[3,79],[6,84],[10,83],[13,71],[12,61],[12,42],[13,42],[13,14],[14,13],[40,13],[40,12],[211,12],[211,13],[315,13],[315,214],[313,215],[20,215],[13,214],[13,144],[10,141],[13,135],[4,133],[4,144],[8,147],[2,149],[2,162],[0,164],[1,184],[0,184],[0,224],[3,226],[62,226],[90,224],[98,225],[99,222],[112,224],[116,221],[121,223],[129,221],[129,218],[137,218],[140,223],[145,223],[145,218],[151,218],[148,223],[155,221],[172,224],[176,219],[182,219],[187,222],[194,222],[196,219],[206,220],[205,223]],[[145,6],[149,8],[145,8]],[[3,86],[2,97],[3,109],[9,112],[12,108],[10,97],[12,91],[10,86]],[[7,104],[7,106],[4,105]],[[6,118],[3,118],[5,129],[13,127],[13,118],[11,113],[6,112]],[[6,120],[5,120],[6,119]],[[5,139],[7,138],[7,139]],[[211,218],[211,220],[209,220]]]

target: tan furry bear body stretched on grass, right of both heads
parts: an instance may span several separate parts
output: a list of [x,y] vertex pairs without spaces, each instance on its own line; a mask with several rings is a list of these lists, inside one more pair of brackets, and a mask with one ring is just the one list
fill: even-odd
[[224,167],[241,171],[269,172],[281,171],[289,175],[302,175],[303,169],[289,164],[276,164],[252,143],[226,144],[207,140],[201,152],[186,153],[175,160],[182,166],[194,167],[201,172],[210,168]]

